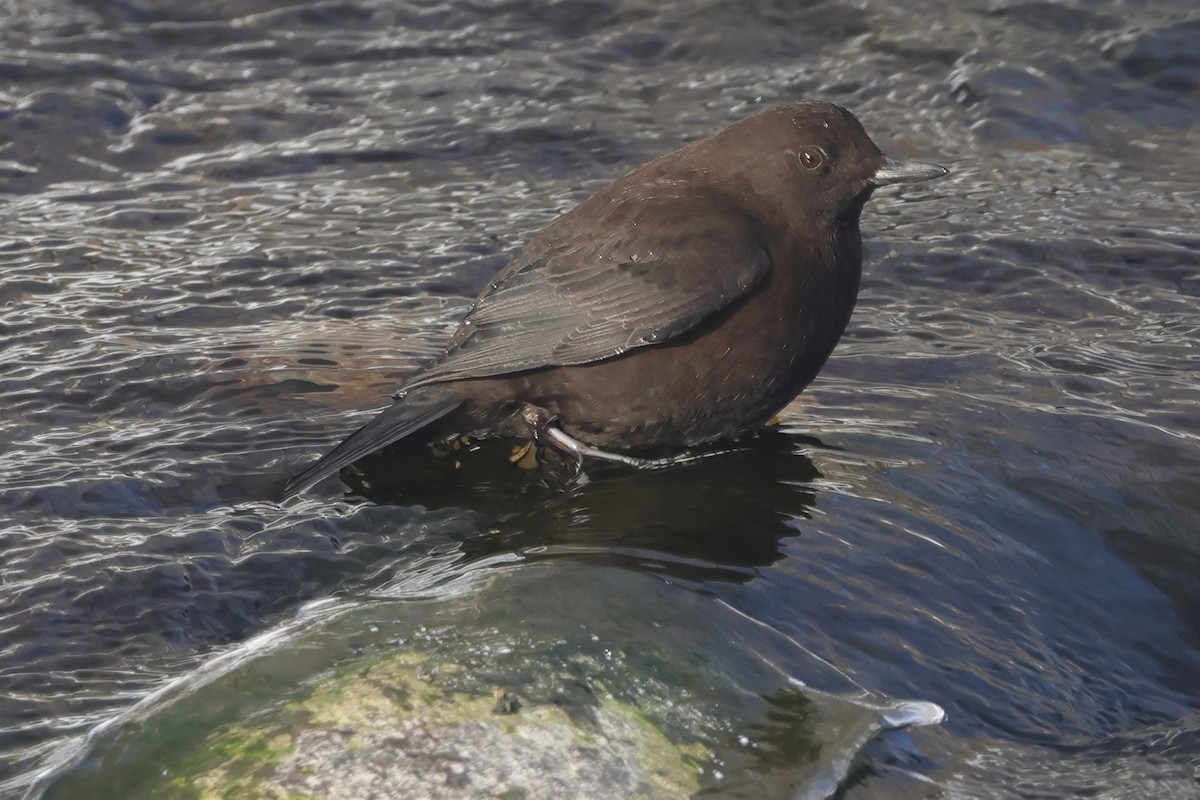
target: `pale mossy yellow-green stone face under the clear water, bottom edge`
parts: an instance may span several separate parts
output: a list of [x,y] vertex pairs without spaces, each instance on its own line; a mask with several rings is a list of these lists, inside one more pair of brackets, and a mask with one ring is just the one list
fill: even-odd
[[200,769],[170,782],[181,794],[271,800],[649,800],[698,789],[703,748],[670,742],[636,709],[604,700],[580,715],[524,700],[500,714],[496,697],[451,688],[457,673],[400,656],[335,678],[276,720],[214,733]]

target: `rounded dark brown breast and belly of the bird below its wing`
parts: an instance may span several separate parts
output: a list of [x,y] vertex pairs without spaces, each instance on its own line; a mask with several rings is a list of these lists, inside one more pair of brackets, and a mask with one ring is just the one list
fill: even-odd
[[816,377],[841,336],[857,271],[847,281],[838,266],[776,261],[757,290],[688,333],[515,377],[514,389],[600,446],[686,447],[745,433]]

